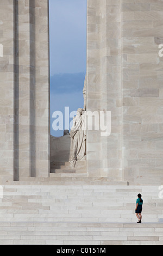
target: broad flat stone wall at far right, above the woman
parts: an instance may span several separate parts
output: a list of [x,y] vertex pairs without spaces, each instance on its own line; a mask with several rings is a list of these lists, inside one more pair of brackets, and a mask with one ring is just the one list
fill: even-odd
[[135,184],[162,181],[162,20],[162,1],[123,0],[124,179]]

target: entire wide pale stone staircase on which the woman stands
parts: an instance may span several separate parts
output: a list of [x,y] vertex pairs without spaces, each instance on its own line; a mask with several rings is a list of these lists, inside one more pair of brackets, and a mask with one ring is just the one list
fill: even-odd
[[158,186],[15,184],[4,185],[0,198],[1,244],[163,245]]

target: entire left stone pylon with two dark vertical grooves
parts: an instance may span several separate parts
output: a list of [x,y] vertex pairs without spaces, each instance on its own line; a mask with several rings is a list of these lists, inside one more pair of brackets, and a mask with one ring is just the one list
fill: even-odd
[[1,177],[48,176],[48,1],[0,4]]

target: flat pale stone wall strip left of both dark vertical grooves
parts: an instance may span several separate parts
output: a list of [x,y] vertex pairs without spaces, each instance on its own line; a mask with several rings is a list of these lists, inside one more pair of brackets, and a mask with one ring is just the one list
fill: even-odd
[[13,175],[14,147],[14,5],[13,1],[0,1],[0,176]]

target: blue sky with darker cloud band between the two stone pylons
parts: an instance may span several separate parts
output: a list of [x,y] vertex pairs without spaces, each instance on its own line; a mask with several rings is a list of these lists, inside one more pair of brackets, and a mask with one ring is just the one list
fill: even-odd
[[[86,0],[49,0],[51,134],[52,114],[83,107],[86,74]],[[72,119],[70,119],[71,121]]]

